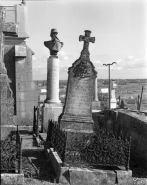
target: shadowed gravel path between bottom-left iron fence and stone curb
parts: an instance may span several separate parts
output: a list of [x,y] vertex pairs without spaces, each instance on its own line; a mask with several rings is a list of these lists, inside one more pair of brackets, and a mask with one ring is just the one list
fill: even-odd
[[42,148],[37,147],[32,135],[21,135],[22,140],[22,168],[25,185],[52,184],[56,178],[51,163],[47,162]]

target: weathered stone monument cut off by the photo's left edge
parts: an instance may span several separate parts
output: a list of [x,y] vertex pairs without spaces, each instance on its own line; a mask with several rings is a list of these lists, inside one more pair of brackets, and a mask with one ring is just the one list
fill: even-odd
[[4,30],[5,9],[0,7],[0,125],[9,125],[13,122],[13,94],[10,88],[10,80],[4,64]]

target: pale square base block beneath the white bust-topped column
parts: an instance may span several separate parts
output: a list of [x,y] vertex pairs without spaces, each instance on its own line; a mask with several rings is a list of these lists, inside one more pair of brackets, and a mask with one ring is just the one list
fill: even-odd
[[62,113],[62,103],[44,103],[43,109],[43,126],[44,131],[48,129],[48,121],[58,121],[59,115]]

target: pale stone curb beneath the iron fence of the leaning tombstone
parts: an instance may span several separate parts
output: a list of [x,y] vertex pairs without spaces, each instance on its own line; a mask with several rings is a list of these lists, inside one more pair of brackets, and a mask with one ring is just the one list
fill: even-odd
[[63,185],[130,185],[131,170],[101,170],[65,167],[57,152],[44,145],[48,161],[51,161],[57,175],[57,182]]

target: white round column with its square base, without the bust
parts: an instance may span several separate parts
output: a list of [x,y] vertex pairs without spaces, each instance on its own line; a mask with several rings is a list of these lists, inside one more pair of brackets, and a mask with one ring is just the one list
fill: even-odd
[[47,61],[47,97],[43,106],[43,125],[46,130],[48,120],[58,121],[62,109],[59,100],[59,59],[52,55]]

